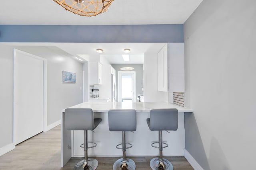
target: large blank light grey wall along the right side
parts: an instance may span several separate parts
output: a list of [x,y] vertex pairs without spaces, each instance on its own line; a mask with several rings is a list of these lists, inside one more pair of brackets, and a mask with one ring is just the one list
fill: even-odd
[[255,16],[255,0],[204,0],[184,25],[186,149],[204,170],[256,167]]

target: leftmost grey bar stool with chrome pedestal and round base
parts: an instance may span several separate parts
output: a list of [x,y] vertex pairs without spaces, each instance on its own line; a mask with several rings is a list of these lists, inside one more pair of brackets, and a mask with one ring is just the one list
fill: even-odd
[[[98,166],[98,160],[88,158],[87,150],[96,147],[94,142],[88,142],[87,131],[94,130],[102,121],[102,119],[94,119],[94,114],[90,108],[68,108],[65,109],[65,124],[68,130],[82,130],[84,131],[84,143],[80,145],[84,148],[84,160],[79,161],[74,170],[95,170]],[[88,147],[88,143],[94,144]]]

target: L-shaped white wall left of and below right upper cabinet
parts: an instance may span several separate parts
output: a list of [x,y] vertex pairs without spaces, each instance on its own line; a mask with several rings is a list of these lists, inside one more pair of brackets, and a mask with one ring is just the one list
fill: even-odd
[[144,54],[144,102],[168,102],[168,92],[157,88],[157,53]]

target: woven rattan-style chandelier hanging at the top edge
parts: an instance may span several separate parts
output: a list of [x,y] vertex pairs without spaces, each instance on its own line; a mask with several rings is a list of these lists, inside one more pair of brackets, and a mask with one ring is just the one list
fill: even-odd
[[80,16],[96,16],[108,10],[114,0],[53,0],[66,10]]

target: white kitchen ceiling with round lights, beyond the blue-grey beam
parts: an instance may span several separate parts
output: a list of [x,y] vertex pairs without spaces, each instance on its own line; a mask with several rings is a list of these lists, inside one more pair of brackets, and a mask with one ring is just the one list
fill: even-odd
[[[88,55],[99,55],[96,49],[103,49],[100,56],[109,61],[110,64],[143,64],[144,53],[156,53],[165,43],[58,43],[56,46],[63,51],[88,59]],[[124,49],[130,49],[130,61],[124,61],[122,55]],[[86,54],[86,55],[84,55]]]

